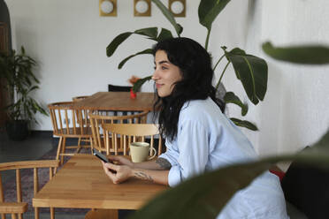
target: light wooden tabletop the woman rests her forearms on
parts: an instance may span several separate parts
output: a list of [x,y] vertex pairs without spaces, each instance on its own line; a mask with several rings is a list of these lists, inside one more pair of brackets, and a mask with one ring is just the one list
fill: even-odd
[[131,178],[114,185],[93,155],[74,155],[34,196],[39,208],[138,209],[168,186]]

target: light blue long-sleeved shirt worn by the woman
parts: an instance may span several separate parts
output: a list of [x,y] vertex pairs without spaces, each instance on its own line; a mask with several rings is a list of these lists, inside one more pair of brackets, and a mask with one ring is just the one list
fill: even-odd
[[[170,186],[207,170],[257,159],[254,147],[210,98],[186,102],[180,109],[175,140],[166,139],[160,155],[172,164]],[[278,177],[266,171],[235,193],[219,219],[286,219],[286,202]]]

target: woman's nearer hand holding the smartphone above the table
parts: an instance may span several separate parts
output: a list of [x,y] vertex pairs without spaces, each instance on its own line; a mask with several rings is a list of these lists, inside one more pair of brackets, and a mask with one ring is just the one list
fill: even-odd
[[[124,158],[124,157],[121,157]],[[111,159],[114,160],[114,159]],[[120,159],[121,160],[121,159]],[[118,161],[118,160],[116,160]],[[126,158],[122,159],[123,162],[126,162]],[[129,161],[129,160],[128,160]],[[120,161],[118,161],[120,162]],[[110,162],[103,162],[103,170],[105,171],[106,175],[111,178],[113,184],[119,184],[129,177],[132,177],[133,170],[128,165],[116,165]],[[113,171],[114,170],[114,171]]]

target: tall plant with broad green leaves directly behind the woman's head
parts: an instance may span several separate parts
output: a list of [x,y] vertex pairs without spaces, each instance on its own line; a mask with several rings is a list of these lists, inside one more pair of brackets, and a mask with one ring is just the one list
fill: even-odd
[[[160,0],[151,0],[154,4],[157,5],[160,11],[165,15],[165,18],[172,24],[176,34],[178,37],[183,32],[183,27],[180,26],[174,19],[172,12],[165,7],[164,4],[161,3]],[[199,7],[198,7],[198,15],[199,15],[199,23],[206,27],[207,29],[207,37],[205,39],[204,48],[208,50],[209,48],[209,39],[210,39],[210,32],[211,26],[214,20],[218,17],[218,14],[224,10],[226,4],[228,4],[230,0],[201,0]],[[123,34],[119,34],[115,37],[111,43],[106,48],[106,54],[108,57],[111,57],[116,49],[118,49],[119,45],[122,42],[125,42],[128,37],[132,34],[138,34],[145,36],[147,39],[160,42],[166,38],[173,37],[171,31],[165,28],[161,28],[161,31],[158,32],[157,27],[149,27],[149,28],[142,28],[135,30],[134,32],[126,32]],[[241,84],[249,97],[250,102],[253,104],[257,104],[260,101],[264,100],[264,96],[266,94],[267,89],[267,64],[263,58],[255,57],[253,55],[247,54],[244,50],[239,48],[234,48],[228,50],[226,46],[222,46],[221,49],[223,50],[223,56],[218,57],[218,61],[214,64],[213,70],[216,71],[218,64],[221,61],[225,61],[226,59],[226,66],[221,71],[220,77],[216,84],[216,89],[221,86],[221,79],[223,79],[224,73],[226,72],[227,66],[229,64],[233,64],[233,69],[237,79],[241,81]],[[129,57],[123,59],[120,63],[118,68],[121,69],[126,62],[131,59],[132,57],[151,54],[152,49],[143,49],[140,52],[135,53]],[[214,58],[215,60],[215,58]],[[138,90],[144,82],[151,79],[150,76],[145,77],[143,79],[138,80],[134,84],[134,91]],[[219,90],[220,91],[220,90]],[[241,116],[246,116],[248,113],[248,104],[241,102],[240,98],[235,95],[232,91],[226,92],[225,96],[223,97],[223,101],[226,103],[233,103],[236,104],[241,108]],[[247,120],[241,120],[235,117],[231,117],[231,120],[235,125],[239,125],[241,127],[248,128],[250,130],[256,131],[258,130],[256,125],[250,123]]]

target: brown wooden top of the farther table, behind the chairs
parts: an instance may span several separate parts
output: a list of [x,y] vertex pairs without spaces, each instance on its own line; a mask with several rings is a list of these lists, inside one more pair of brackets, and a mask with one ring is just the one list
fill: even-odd
[[153,109],[154,93],[138,92],[135,99],[129,92],[97,92],[80,102],[74,102],[77,109],[143,111]]

